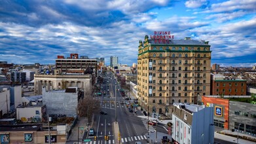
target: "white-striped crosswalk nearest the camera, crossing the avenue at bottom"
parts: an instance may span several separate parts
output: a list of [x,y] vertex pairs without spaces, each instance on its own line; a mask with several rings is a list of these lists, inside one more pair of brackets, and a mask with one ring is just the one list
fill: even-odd
[[[117,141],[117,143],[132,143],[133,141],[141,141],[147,139],[146,135],[137,135],[137,136],[132,136],[132,137],[124,137],[121,138],[120,141]],[[101,143],[107,143],[107,144],[114,144],[115,139],[109,139],[109,141],[105,141],[103,139],[99,140],[92,140],[88,142],[84,142],[84,144],[101,144]]]

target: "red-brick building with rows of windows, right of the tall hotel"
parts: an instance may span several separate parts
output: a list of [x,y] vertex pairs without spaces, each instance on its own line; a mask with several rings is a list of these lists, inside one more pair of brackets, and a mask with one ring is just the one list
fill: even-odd
[[246,80],[225,78],[223,75],[212,75],[210,94],[213,96],[246,96]]

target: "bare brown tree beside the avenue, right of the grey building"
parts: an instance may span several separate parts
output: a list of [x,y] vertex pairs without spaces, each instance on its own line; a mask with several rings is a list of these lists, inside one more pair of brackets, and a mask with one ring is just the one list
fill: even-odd
[[87,117],[88,122],[91,121],[92,114],[100,111],[100,101],[93,98],[92,89],[84,91],[84,98],[79,102],[77,106],[77,112],[79,117]]

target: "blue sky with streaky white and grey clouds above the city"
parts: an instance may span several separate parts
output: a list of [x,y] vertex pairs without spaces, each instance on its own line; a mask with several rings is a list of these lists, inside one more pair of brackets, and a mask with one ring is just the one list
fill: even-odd
[[0,61],[9,63],[78,53],[132,65],[154,31],[210,41],[211,63],[256,64],[256,0],[0,0]]

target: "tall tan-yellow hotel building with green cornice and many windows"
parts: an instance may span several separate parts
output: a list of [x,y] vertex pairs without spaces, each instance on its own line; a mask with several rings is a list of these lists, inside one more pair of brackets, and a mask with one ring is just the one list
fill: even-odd
[[197,103],[210,95],[211,50],[208,41],[189,37],[158,43],[139,41],[137,86],[141,107],[149,113],[171,113],[172,103]]

